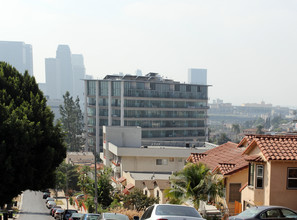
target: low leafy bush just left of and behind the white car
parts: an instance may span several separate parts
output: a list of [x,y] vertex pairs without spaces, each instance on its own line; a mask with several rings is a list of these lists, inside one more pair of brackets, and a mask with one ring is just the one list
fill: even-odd
[[137,211],[145,210],[147,207],[158,203],[159,199],[147,197],[140,189],[135,189],[133,192],[123,197],[125,207],[134,206]]

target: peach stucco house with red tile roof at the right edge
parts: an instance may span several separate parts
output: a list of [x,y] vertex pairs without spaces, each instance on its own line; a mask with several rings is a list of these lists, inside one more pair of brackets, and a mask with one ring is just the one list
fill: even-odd
[[243,209],[281,205],[297,210],[297,136],[248,135],[238,145],[249,162]]

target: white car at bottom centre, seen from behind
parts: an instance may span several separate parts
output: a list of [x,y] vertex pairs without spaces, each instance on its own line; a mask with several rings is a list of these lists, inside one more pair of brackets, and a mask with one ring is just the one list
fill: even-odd
[[156,204],[148,207],[141,220],[204,220],[194,207],[172,204]]

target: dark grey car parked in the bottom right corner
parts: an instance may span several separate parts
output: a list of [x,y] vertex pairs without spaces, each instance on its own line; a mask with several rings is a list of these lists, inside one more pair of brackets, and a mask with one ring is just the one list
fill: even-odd
[[249,208],[238,215],[229,217],[229,220],[256,220],[256,219],[297,219],[297,213],[282,206],[258,206]]

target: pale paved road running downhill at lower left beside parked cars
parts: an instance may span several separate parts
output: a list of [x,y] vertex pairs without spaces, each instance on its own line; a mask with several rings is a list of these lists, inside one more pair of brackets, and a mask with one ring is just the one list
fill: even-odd
[[53,220],[42,199],[42,192],[25,191],[18,220]]

